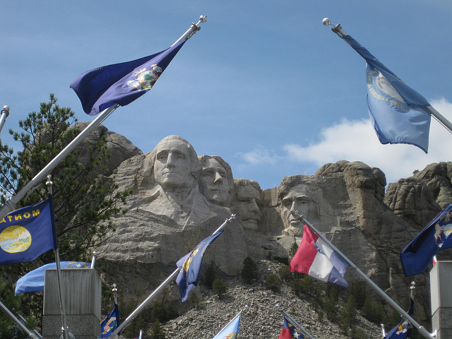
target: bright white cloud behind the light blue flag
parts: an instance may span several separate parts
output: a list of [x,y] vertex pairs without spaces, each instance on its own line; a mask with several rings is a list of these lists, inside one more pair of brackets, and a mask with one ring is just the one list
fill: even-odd
[[[451,121],[452,103],[445,99],[432,101],[432,106]],[[321,132],[321,141],[302,147],[295,143],[283,146],[287,158],[295,162],[311,162],[321,166],[338,160],[362,161],[379,167],[389,182],[410,177],[413,170],[424,169],[432,162],[451,161],[452,133],[432,119],[429,153],[413,145],[381,145],[369,119],[343,120]]]

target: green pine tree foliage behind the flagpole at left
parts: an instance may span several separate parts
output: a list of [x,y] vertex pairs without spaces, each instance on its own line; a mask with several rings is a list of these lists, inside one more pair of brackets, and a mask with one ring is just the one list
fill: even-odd
[[[70,108],[57,105],[57,98],[51,94],[49,102],[40,104],[39,112],[31,112],[25,120],[19,121],[18,131],[9,130],[22,149],[16,152],[0,141],[1,203],[28,184],[80,133],[76,122],[75,113]],[[62,260],[90,261],[93,247],[104,242],[108,232],[114,230],[110,218],[125,212],[123,205],[131,191],[117,191],[112,179],[106,176],[106,160],[107,143],[105,137],[101,137],[93,145],[81,143],[49,173],[52,174],[55,222]],[[47,197],[45,182],[37,183],[16,208],[39,203]],[[2,266],[0,280],[12,286],[20,275],[53,261],[54,256],[49,251],[32,263]],[[12,291],[0,290],[0,299],[8,299],[9,293]],[[33,298],[33,295],[23,295],[23,302],[33,310],[32,316],[40,319],[42,296]]]

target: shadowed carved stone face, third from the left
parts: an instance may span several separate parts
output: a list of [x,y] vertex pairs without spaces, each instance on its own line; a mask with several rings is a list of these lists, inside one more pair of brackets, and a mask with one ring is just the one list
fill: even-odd
[[245,230],[257,231],[257,224],[261,220],[261,192],[251,184],[236,186],[235,190],[240,223]]

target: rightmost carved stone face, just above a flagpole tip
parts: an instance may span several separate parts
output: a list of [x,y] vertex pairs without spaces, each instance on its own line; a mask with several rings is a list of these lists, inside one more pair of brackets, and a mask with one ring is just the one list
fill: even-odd
[[299,214],[306,215],[309,203],[309,196],[307,195],[307,192],[307,186],[299,184],[292,187],[281,199],[283,203],[282,216],[286,230],[299,229],[300,234],[302,233],[302,222],[298,219],[298,217],[292,215],[292,212],[297,210]]

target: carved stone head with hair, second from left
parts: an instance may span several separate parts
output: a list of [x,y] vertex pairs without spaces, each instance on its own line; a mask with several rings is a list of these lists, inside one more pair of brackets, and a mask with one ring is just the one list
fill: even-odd
[[199,155],[203,166],[199,178],[199,190],[206,199],[218,206],[230,207],[234,191],[232,169],[217,155]]

